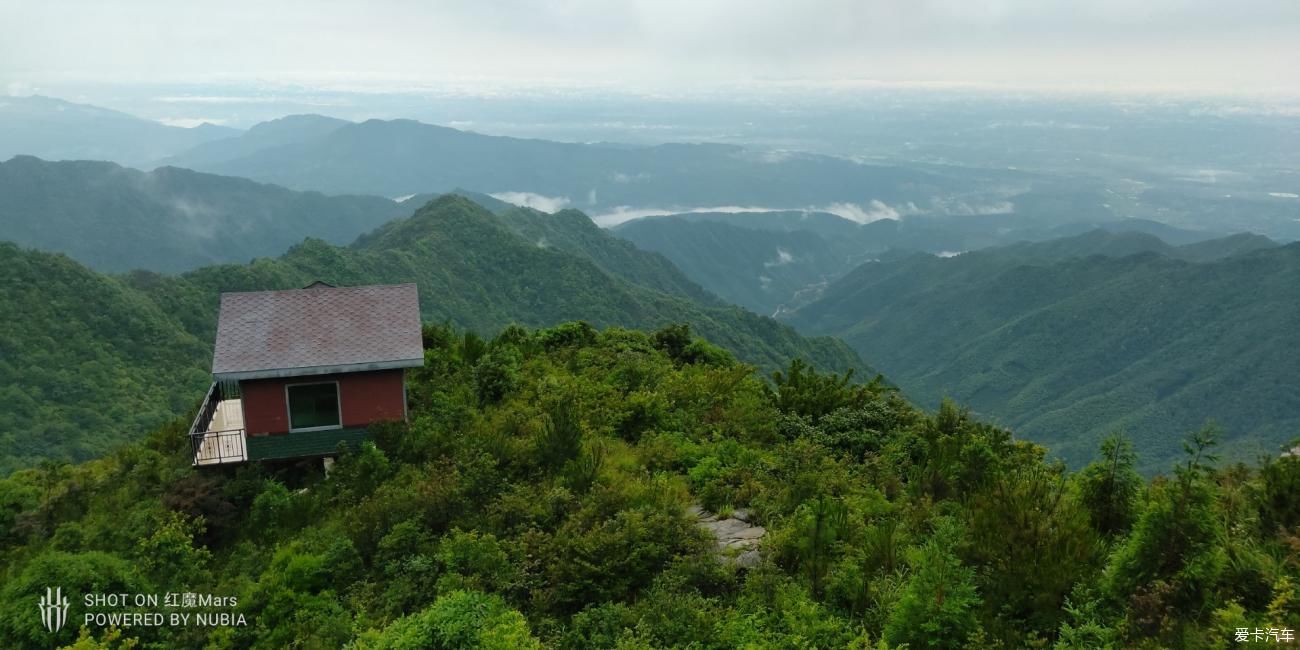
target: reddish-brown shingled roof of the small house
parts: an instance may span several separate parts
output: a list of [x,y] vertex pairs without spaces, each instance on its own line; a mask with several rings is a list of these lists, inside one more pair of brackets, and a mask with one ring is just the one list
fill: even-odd
[[424,364],[415,285],[221,294],[217,381],[412,368]]

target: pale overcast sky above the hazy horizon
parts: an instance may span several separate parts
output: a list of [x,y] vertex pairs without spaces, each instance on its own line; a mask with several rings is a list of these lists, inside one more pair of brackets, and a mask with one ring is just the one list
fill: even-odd
[[0,88],[915,82],[1300,95],[1300,0],[0,0]]

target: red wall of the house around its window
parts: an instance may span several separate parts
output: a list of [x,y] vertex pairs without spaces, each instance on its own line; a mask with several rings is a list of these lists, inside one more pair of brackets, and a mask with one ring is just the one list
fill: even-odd
[[406,419],[406,384],[400,369],[250,380],[239,382],[248,436],[289,433],[285,386],[320,381],[338,381],[343,426],[365,426],[381,420]]

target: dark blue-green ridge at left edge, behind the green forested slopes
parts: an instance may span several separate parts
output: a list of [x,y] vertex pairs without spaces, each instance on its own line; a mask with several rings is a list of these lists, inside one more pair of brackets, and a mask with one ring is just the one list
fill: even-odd
[[285,252],[303,237],[343,244],[412,207],[296,192],[243,178],[113,162],[0,162],[0,231],[104,272],[181,272]]

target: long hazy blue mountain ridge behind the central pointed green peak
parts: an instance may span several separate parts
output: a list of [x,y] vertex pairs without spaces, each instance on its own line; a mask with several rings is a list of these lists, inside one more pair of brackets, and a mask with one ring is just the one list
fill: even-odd
[[[256,136],[257,129],[251,129],[240,140]],[[944,176],[802,153],[772,156],[729,144],[563,143],[411,120],[369,120],[287,144],[246,147],[231,150],[225,160],[212,160],[204,151],[178,155],[173,162],[296,190],[404,196],[473,187],[532,192],[585,209],[920,200],[980,186],[968,173]]]

